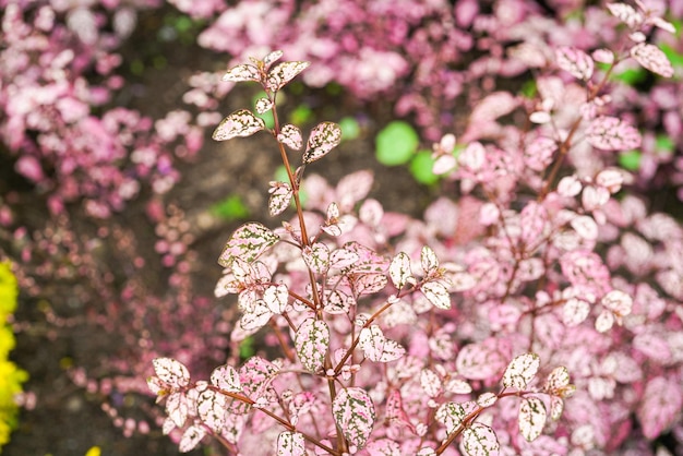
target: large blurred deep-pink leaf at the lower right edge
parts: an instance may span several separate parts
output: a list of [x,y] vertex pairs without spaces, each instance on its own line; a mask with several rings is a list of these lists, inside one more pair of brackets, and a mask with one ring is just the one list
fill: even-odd
[[683,395],[678,380],[663,376],[651,379],[637,410],[643,434],[648,440],[657,439],[680,419],[682,406]]

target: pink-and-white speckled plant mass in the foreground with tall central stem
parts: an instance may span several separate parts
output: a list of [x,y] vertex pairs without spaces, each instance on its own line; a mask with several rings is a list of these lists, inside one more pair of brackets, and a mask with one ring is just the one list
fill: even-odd
[[549,47],[532,96],[488,94],[459,144],[434,144],[459,197],[422,220],[368,197],[368,172],[335,188],[307,177],[342,132],[324,121],[304,140],[279,121],[277,96],[308,61],[274,51],[227,71],[265,96],[213,137],[267,131],[287,170],[268,209],[295,214],[242,225],[218,259],[216,297],[237,295],[241,312],[231,340],[266,328],[263,349],[199,379],[153,362],[181,452],[206,435],[253,455],[652,454],[667,432],[680,441],[683,229],[614,167],[643,136],[610,83],[625,62],[673,76],[648,36],[675,28],[642,3],[608,9],[628,32],[615,49]]

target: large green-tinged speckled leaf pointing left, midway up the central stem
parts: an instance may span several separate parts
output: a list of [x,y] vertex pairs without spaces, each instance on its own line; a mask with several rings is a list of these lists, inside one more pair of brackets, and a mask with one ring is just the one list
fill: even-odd
[[236,229],[228,239],[218,257],[218,264],[230,267],[235,257],[251,263],[278,240],[279,237],[265,226],[250,221]]

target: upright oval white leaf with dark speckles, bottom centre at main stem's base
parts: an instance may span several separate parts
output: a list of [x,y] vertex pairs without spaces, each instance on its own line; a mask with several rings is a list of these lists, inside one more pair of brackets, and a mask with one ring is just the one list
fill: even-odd
[[362,448],[375,419],[374,404],[368,393],[359,387],[340,389],[332,403],[332,412],[346,440]]

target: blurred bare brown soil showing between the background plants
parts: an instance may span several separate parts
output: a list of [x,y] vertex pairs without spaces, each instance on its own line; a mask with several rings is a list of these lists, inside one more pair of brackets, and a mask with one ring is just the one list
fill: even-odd
[[[155,33],[155,27],[160,26],[159,21],[157,16],[142,17],[139,36],[131,40],[136,45],[123,50],[125,62],[139,60],[147,65],[141,76],[129,75],[129,80],[134,81],[137,77],[137,82],[117,100],[121,106],[136,107],[152,117],[159,117],[182,106],[180,98],[185,89],[183,81],[189,74],[214,69],[215,65],[225,67],[225,62],[216,62],[213,53],[178,43],[159,44],[145,36]],[[147,45],[137,46],[143,43]],[[154,69],[149,62],[158,56],[164,56],[167,63],[165,68]],[[245,107],[250,99],[249,88],[236,89],[221,110],[228,113],[232,109]],[[405,168],[387,169],[374,159],[373,137],[381,127],[392,120],[391,104],[386,100],[383,104],[361,105],[344,95],[333,96],[324,91],[307,89],[307,99],[292,97],[286,109],[296,106],[296,103],[312,105],[316,120],[338,121],[345,116],[360,113],[364,113],[364,119],[368,119],[358,139],[343,143],[327,157],[310,166],[307,172],[320,173],[334,183],[355,170],[372,169],[375,184],[371,196],[380,200],[387,211],[418,214],[430,201],[429,189],[417,184]],[[173,202],[184,211],[187,218],[193,224],[196,237],[192,248],[199,252],[200,257],[211,259],[195,274],[199,293],[212,296],[215,280],[220,273],[214,259],[231,229],[239,224],[237,220],[215,218],[209,224],[202,224],[202,216],[206,215],[211,205],[227,195],[237,194],[248,206],[249,219],[265,220],[264,223],[272,225],[266,213],[267,183],[273,179],[278,165],[278,155],[272,139],[263,133],[249,140],[233,140],[228,143],[214,143],[207,139],[196,159],[182,165],[182,180],[166,202]],[[22,192],[22,201],[38,201],[32,195],[31,187],[22,183],[17,189]],[[25,211],[35,213],[28,218],[37,219],[41,216],[38,206],[27,204]],[[142,239],[149,239],[151,226],[142,223],[142,217],[137,217],[142,211],[141,204],[133,203],[124,213],[116,214],[111,223],[133,229]],[[158,266],[159,274],[160,269],[161,266]],[[154,274],[155,271],[149,273]],[[68,287],[61,287],[56,292],[68,290]],[[67,299],[53,298],[55,302],[68,302]],[[120,344],[120,340],[105,338],[96,327],[87,325],[55,332],[38,307],[39,302],[35,300],[21,300],[16,319],[28,323],[25,326],[28,329],[17,334],[17,346],[12,352],[13,360],[31,375],[25,391],[35,394],[36,406],[22,411],[20,427],[3,448],[3,455],[80,456],[85,455],[93,446],[100,447],[103,455],[178,454],[177,446],[167,436],[160,435],[157,429],[153,429],[149,435],[123,437],[121,431],[101,410],[101,398],[75,386],[67,375],[65,368],[71,364],[98,365],[97,360],[117,351],[116,344]],[[55,310],[68,313],[79,311]],[[140,406],[153,406],[152,398],[141,400],[143,404]],[[192,454],[205,453],[195,451]]]

